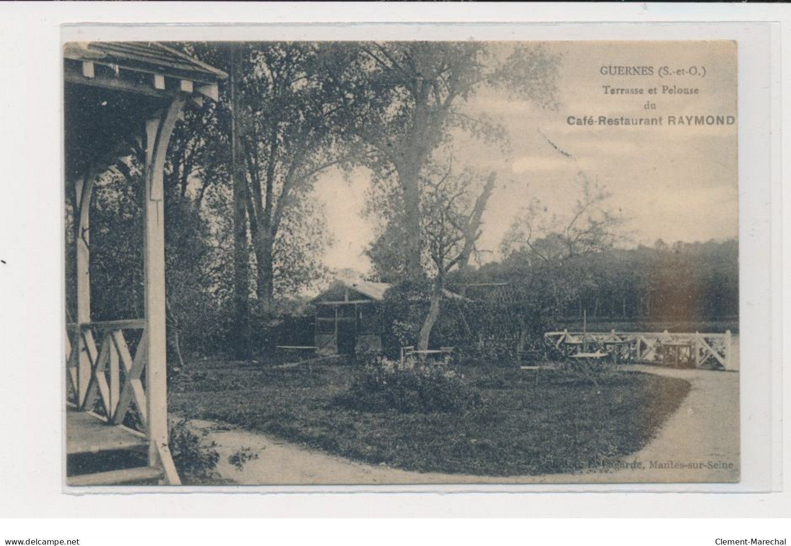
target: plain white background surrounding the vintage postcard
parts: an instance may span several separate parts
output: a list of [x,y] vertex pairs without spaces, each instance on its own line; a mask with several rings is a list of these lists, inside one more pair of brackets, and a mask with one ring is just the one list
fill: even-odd
[[[231,4],[224,2],[159,3],[145,5],[118,3],[16,3],[0,5],[0,515],[21,518],[51,517],[271,517],[271,516],[459,516],[459,517],[777,517],[789,515],[791,495],[787,476],[780,474],[781,457],[789,468],[789,420],[779,418],[782,393],[789,392],[789,375],[780,373],[782,355],[782,313],[788,317],[787,279],[782,279],[781,256],[787,260],[788,243],[779,234],[789,233],[788,218],[782,218],[781,157],[779,130],[789,127],[788,108],[779,108],[776,93],[780,58],[770,59],[778,80],[740,81],[740,244],[742,265],[742,350],[755,358],[755,373],[747,373],[747,357],[742,355],[742,396],[744,433],[758,431],[755,442],[743,438],[745,473],[763,478],[764,491],[734,493],[289,493],[289,494],[180,494],[180,495],[66,495],[61,491],[62,435],[59,415],[61,397],[62,337],[62,203],[61,203],[61,112],[60,87],[62,59],[59,49],[64,23],[85,22],[313,22],[313,21],[782,21],[775,26],[773,40],[783,40],[782,59],[789,56],[791,10],[788,6],[729,5],[516,5],[516,4]],[[695,36],[705,36],[710,27],[684,25]],[[411,32],[417,26],[407,27]],[[422,27],[424,28],[424,27]],[[490,27],[495,29],[497,27]],[[676,27],[679,28],[679,27]],[[384,38],[390,27],[358,28],[342,26],[305,29],[312,38],[317,32],[341,32],[347,39]],[[486,28],[472,28],[476,38],[488,36]],[[744,25],[744,32],[751,32]],[[237,39],[262,39],[255,28]],[[258,29],[259,31],[259,29]],[[136,31],[135,31],[136,32]],[[180,39],[184,28],[171,28],[160,39]],[[255,32],[255,34],[252,34]],[[280,32],[279,30],[277,32]],[[395,32],[393,30],[392,32]],[[403,27],[398,32],[404,32]],[[424,32],[424,31],[420,31]],[[458,30],[454,32],[459,32]],[[495,32],[492,30],[492,32]],[[546,32],[544,35],[542,32]],[[574,39],[586,36],[589,27],[544,27],[532,39],[554,37]],[[624,35],[608,34],[600,39],[647,38],[650,30],[623,27]],[[657,31],[658,32],[658,31]],[[669,31],[668,31],[669,32]],[[273,35],[276,34],[273,28]],[[549,36],[549,35],[552,36]],[[636,36],[635,36],[636,35]],[[457,35],[454,35],[458,37]],[[95,36],[92,36],[95,37]],[[423,37],[423,36],[422,36]],[[669,36],[668,36],[669,37]],[[114,33],[112,39],[123,39]],[[779,49],[778,49],[779,51]],[[744,63],[747,61],[747,64]],[[747,69],[758,70],[766,59],[742,59],[740,76]],[[787,63],[786,63],[787,64]],[[788,88],[788,71],[782,89]],[[751,85],[751,87],[750,87]],[[773,87],[773,85],[775,87]],[[763,92],[761,91],[763,88]],[[767,99],[766,89],[770,97]],[[747,93],[744,95],[743,93]],[[751,94],[753,93],[753,94]],[[758,103],[752,104],[751,103]],[[764,119],[742,119],[743,107],[767,112]],[[763,109],[762,109],[763,108]],[[761,117],[761,116],[759,116]],[[755,131],[755,138],[747,138]],[[775,137],[758,145],[762,134]],[[787,159],[783,157],[783,159]],[[754,161],[755,169],[743,171],[744,161]],[[772,177],[770,177],[772,176]],[[769,180],[774,182],[770,186]],[[746,207],[746,208],[745,208]],[[787,193],[785,208],[788,207]],[[752,241],[752,242],[751,242]],[[783,245],[783,247],[781,246]],[[746,252],[745,252],[745,249]],[[745,286],[747,282],[749,285]],[[782,298],[785,295],[785,306]],[[747,320],[747,317],[750,320]],[[747,333],[750,332],[750,333]],[[769,335],[771,334],[771,336]],[[763,351],[763,352],[762,352]],[[760,362],[759,362],[760,360]],[[771,381],[762,374],[769,373]],[[744,404],[755,411],[744,411]],[[750,406],[755,404],[755,406]],[[788,404],[786,404],[788,405]],[[774,419],[773,419],[774,415]],[[787,410],[785,415],[788,415]],[[747,426],[747,428],[745,428]],[[771,427],[771,430],[770,430]],[[785,427],[785,434],[781,434]],[[768,444],[767,438],[774,438]],[[781,450],[780,438],[785,438]],[[769,447],[770,446],[770,447]],[[756,451],[757,449],[757,451]],[[763,461],[763,462],[762,462]],[[765,464],[767,468],[761,468]],[[787,473],[786,473],[787,474]],[[751,483],[750,476],[745,476]],[[756,486],[757,487],[757,486]],[[676,488],[677,489],[677,488]],[[785,537],[778,522],[734,521],[698,522],[697,525],[671,525],[659,522],[520,522],[518,525],[487,523],[467,528],[456,522],[443,528],[430,527],[417,533],[411,526],[380,522],[350,529],[321,526],[273,526],[255,522],[249,526],[216,521],[167,522],[149,525],[142,521],[125,524],[100,524],[62,521],[0,521],[0,540],[8,538],[84,537],[81,544],[131,544],[149,540],[160,544],[165,539],[185,544],[215,544],[214,537],[242,540],[297,540],[309,529],[316,529],[314,540],[339,539],[341,542],[365,540],[389,544],[395,540],[437,537],[475,542],[501,540],[529,541],[536,538],[560,540],[570,544],[639,541],[659,544],[714,544],[720,538]],[[657,525],[658,524],[658,525]],[[729,525],[736,525],[729,529]],[[282,536],[280,533],[287,533]],[[417,534],[416,534],[417,533]],[[431,534],[438,533],[438,534]],[[494,535],[492,534],[494,533]],[[505,534],[503,534],[505,533]],[[408,537],[408,538],[403,538]],[[184,540],[186,539],[186,540]],[[168,541],[169,541],[168,540]],[[622,542],[623,541],[623,542]],[[2,543],[0,543],[2,544]]]

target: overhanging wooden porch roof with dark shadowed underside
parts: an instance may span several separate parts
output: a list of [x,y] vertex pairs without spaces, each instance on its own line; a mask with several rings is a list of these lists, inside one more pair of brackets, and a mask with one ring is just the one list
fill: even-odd
[[218,100],[227,77],[157,42],[64,44],[67,182],[123,156],[144,120],[176,97]]

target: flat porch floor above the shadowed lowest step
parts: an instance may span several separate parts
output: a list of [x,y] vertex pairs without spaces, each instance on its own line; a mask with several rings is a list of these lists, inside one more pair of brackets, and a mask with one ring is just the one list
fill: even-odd
[[85,411],[66,412],[66,454],[100,453],[148,446],[142,434],[104,423]]

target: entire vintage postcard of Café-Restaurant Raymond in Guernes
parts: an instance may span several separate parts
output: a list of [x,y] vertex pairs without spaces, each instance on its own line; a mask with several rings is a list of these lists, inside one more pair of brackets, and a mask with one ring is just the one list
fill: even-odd
[[736,53],[67,42],[66,485],[739,482]]

